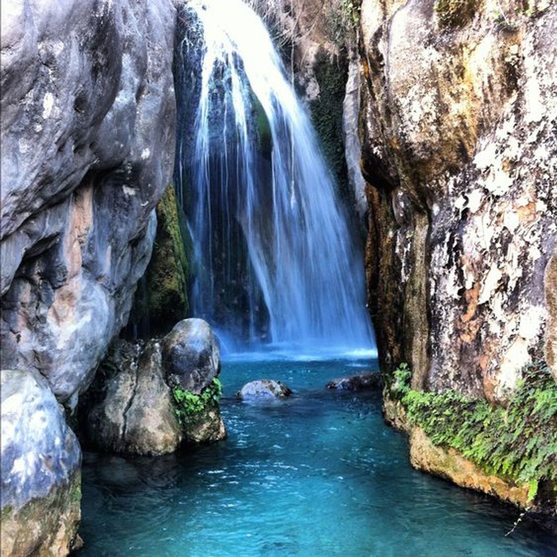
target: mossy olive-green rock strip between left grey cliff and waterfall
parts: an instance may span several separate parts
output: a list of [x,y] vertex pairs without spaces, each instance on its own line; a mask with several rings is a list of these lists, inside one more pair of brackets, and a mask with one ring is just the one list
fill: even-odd
[[167,333],[188,314],[189,277],[186,255],[187,229],[180,218],[173,185],[157,205],[157,236],[153,255],[138,286],[131,321],[148,322],[150,334]]

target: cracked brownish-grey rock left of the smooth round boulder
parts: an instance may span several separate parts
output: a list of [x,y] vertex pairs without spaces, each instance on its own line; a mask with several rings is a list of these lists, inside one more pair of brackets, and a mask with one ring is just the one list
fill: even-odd
[[182,442],[164,381],[162,353],[157,340],[144,347],[119,341],[110,363],[115,375],[105,395],[87,418],[89,440],[105,451],[131,455],[163,455]]

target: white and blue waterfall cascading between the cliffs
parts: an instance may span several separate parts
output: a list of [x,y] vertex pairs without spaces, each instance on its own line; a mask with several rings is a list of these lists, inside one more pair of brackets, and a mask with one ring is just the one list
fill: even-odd
[[175,180],[194,314],[251,344],[373,348],[363,258],[265,25],[241,0],[192,0],[182,17]]

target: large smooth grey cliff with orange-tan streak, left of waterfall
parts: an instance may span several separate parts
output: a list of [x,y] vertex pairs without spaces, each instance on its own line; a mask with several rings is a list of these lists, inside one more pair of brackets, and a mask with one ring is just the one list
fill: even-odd
[[2,7],[2,364],[58,400],[90,383],[149,261],[174,22],[166,0]]

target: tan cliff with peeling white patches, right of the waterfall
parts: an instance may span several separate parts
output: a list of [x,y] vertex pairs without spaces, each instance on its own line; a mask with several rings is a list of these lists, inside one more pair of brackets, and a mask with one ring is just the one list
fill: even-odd
[[555,373],[556,31],[545,1],[361,6],[370,306],[415,389]]

